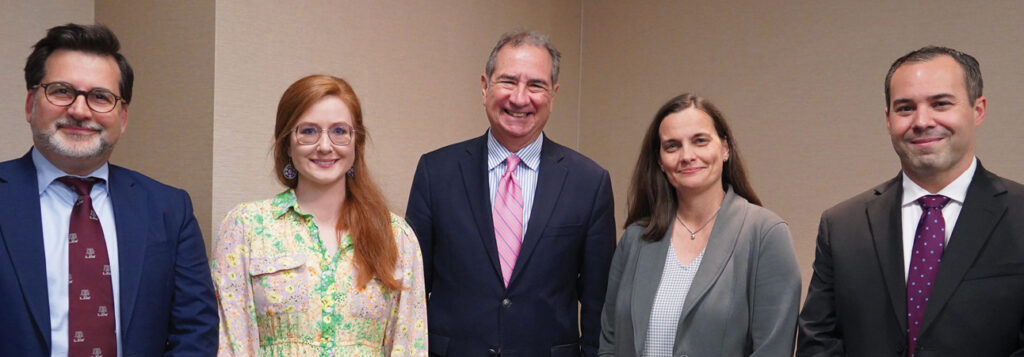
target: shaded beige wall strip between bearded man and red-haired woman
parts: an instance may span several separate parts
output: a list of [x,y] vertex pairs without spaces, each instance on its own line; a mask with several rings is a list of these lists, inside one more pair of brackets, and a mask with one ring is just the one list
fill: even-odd
[[96,21],[135,71],[128,129],[111,162],[191,195],[209,246],[213,190],[213,3],[96,1]]

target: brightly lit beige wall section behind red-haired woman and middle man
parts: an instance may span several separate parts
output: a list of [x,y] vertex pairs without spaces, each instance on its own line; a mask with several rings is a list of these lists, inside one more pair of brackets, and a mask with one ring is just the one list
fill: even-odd
[[278,100],[314,73],[355,89],[372,138],[368,164],[402,214],[420,154],[483,134],[479,76],[490,47],[515,27],[549,33],[562,49],[548,134],[575,146],[579,2],[218,2],[215,222],[282,190],[269,157]]

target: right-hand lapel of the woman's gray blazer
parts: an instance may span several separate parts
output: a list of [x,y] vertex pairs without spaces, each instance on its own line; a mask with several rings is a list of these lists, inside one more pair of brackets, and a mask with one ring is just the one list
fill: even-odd
[[[715,281],[722,276],[726,264],[732,258],[736,241],[739,240],[739,231],[746,219],[746,199],[736,195],[731,188],[725,192],[725,199],[719,209],[718,218],[708,239],[708,247],[705,248],[703,258],[697,267],[697,274],[693,277],[689,293],[686,294],[686,301],[683,302],[683,311],[679,315],[680,326],[697,302],[703,299]],[[681,338],[676,334],[677,343]]]

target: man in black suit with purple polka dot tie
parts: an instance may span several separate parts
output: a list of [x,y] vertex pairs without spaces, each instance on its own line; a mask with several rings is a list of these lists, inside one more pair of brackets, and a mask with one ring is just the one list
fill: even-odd
[[893,63],[902,172],[822,214],[798,356],[1024,355],[1024,186],[975,158],[985,108],[966,53]]

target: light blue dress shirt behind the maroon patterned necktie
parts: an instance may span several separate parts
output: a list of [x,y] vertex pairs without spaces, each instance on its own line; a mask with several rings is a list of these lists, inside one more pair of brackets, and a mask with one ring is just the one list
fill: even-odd
[[[68,229],[71,226],[71,210],[78,200],[78,194],[56,179],[68,175],[46,160],[35,148],[32,162],[36,166],[36,180],[39,183],[39,207],[43,224],[43,252],[46,258],[46,292],[50,307],[50,356],[68,357]],[[121,286],[118,281],[118,235],[114,225],[114,207],[108,190],[110,165],[84,177],[100,178],[102,181],[92,186],[92,209],[99,216],[106,242],[106,255],[111,263],[111,282],[114,287],[114,319],[118,340],[118,356],[121,351]],[[12,338],[12,337],[8,337]]]

